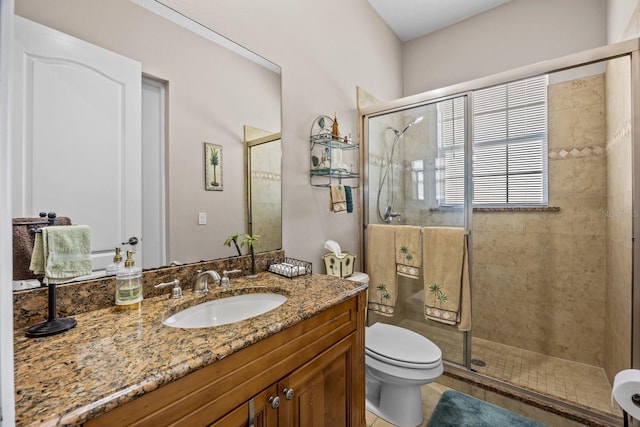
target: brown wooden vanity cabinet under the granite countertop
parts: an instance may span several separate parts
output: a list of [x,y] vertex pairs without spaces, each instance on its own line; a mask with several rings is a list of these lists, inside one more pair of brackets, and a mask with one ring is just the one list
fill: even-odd
[[364,426],[364,298],[361,292],[86,425],[244,427],[253,413],[255,427]]

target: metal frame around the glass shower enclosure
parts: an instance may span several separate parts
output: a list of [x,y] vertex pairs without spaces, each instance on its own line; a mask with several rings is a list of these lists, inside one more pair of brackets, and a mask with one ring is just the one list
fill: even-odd
[[[359,109],[359,134],[362,135],[360,157],[360,171],[361,182],[360,186],[363,191],[360,192],[360,205],[362,206],[362,216],[360,218],[361,227],[359,229],[359,242],[360,253],[362,254],[362,260],[364,267],[366,267],[366,253],[364,243],[364,233],[366,224],[369,223],[369,172],[366,167],[366,162],[369,156],[369,133],[368,125],[369,119],[384,114],[399,112],[402,110],[408,110],[411,108],[419,107],[426,104],[438,102],[443,99],[452,98],[455,96],[467,96],[467,111],[470,111],[469,106],[471,103],[471,97],[476,90],[484,89],[487,87],[508,83],[515,80],[522,80],[530,77],[535,77],[543,74],[549,74],[558,71],[565,71],[572,68],[582,67],[585,65],[591,65],[599,62],[604,62],[620,57],[628,56],[630,58],[631,68],[631,146],[632,146],[632,285],[631,285],[631,367],[634,369],[640,369],[640,215],[636,212],[640,212],[640,147],[636,148],[637,144],[640,144],[640,39],[630,39],[622,41],[616,44],[603,46],[584,52],[579,52],[571,55],[566,55],[560,58],[538,62],[525,67],[512,69],[509,71],[500,72],[487,77],[482,77],[467,82],[454,84],[451,86],[438,88],[423,92],[416,95],[411,95],[403,98],[399,98],[390,102],[381,103],[378,105],[360,107]],[[473,209],[471,207],[471,186],[467,188],[466,182],[470,180],[471,171],[471,159],[472,159],[472,135],[471,135],[471,120],[466,121],[467,126],[467,141],[465,142],[465,174],[468,175],[465,179],[465,222],[469,231],[469,247],[471,248],[472,239],[472,222],[471,217]],[[469,203],[469,207],[467,207]],[[469,251],[469,262],[471,265],[472,251]],[[470,268],[471,270],[471,268]],[[366,271],[366,269],[365,269]],[[638,274],[636,274],[638,273]],[[473,283],[473,281],[472,281]],[[473,293],[473,286],[471,288]],[[465,333],[464,338],[464,355],[463,365],[470,368],[470,352],[471,352],[471,332]],[[479,375],[474,372],[470,372],[470,375]]]

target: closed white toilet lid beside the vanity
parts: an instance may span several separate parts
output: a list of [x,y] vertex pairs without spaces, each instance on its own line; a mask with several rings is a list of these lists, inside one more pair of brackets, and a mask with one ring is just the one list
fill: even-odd
[[386,323],[366,328],[365,347],[370,357],[397,366],[430,368],[442,361],[442,351],[429,339]]

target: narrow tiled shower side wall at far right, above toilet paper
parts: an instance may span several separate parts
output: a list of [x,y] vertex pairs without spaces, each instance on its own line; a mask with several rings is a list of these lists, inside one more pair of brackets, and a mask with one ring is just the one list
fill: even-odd
[[607,286],[604,368],[631,367],[631,75],[628,58],[609,61],[607,90]]

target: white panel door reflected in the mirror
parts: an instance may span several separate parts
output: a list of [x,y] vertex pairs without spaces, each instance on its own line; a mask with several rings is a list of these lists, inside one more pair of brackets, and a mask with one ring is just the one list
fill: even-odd
[[141,64],[18,16],[14,55],[13,215],[89,225],[103,269],[141,235]]

